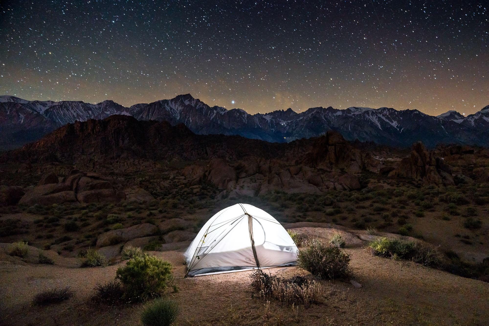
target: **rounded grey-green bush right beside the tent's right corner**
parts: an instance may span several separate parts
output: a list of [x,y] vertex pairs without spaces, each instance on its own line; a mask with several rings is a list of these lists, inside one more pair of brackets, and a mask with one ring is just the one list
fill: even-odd
[[321,279],[335,279],[349,273],[350,255],[332,244],[311,239],[298,251],[297,265]]

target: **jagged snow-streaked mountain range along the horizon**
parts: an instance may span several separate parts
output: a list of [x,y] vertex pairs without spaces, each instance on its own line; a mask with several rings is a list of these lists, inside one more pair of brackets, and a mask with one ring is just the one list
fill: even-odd
[[346,140],[409,147],[422,141],[438,144],[489,146],[489,106],[467,117],[448,111],[430,116],[419,110],[392,108],[311,108],[249,114],[243,109],[210,107],[190,94],[170,100],[136,104],[129,108],[106,100],[98,104],[81,101],[27,101],[0,96],[0,150],[8,150],[40,139],[68,123],[104,119],[114,114],[137,120],[184,124],[196,134],[240,135],[251,139],[284,143],[311,138],[334,130]]

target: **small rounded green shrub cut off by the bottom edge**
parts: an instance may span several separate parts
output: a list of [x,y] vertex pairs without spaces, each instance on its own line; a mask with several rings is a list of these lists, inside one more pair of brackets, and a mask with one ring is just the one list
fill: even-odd
[[178,304],[167,298],[157,298],[146,304],[141,312],[144,326],[169,326],[177,319]]

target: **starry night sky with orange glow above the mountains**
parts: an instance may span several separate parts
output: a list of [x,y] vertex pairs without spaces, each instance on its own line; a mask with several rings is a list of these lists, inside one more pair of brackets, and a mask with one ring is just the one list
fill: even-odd
[[0,94],[249,113],[489,104],[487,1],[0,1]]

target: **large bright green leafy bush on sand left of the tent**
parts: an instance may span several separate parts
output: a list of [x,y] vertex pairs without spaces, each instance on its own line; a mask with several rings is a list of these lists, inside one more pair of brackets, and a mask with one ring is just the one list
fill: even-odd
[[127,299],[144,301],[161,295],[173,281],[172,264],[144,254],[119,267],[115,277],[122,283]]

